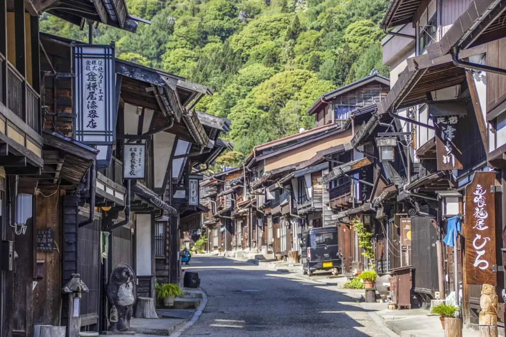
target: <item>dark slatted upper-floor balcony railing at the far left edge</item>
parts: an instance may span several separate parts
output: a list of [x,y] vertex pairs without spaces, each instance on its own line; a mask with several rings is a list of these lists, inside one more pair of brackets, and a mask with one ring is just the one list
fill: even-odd
[[25,86],[24,77],[9,62],[7,62],[7,107],[30,128],[40,133],[40,95],[28,83]]

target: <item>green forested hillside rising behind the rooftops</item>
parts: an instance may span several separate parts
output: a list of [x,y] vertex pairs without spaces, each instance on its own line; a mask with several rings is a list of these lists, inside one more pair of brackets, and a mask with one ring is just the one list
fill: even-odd
[[[116,56],[215,90],[198,109],[227,117],[239,160],[255,145],[312,128],[321,94],[382,65],[378,28],[388,0],[127,0],[151,20],[137,34],[99,26],[95,43]],[[41,29],[86,41],[87,32],[45,15]]]

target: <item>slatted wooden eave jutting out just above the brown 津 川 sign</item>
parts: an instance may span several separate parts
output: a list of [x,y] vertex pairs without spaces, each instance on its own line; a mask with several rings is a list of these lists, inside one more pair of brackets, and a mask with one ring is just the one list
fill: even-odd
[[[460,58],[485,52],[486,45],[481,45],[462,51]],[[377,104],[378,114],[425,103],[428,100],[428,93],[457,86],[466,81],[466,70],[455,66],[451,55],[431,60],[429,55],[425,54],[409,58],[407,63],[386,99]]]

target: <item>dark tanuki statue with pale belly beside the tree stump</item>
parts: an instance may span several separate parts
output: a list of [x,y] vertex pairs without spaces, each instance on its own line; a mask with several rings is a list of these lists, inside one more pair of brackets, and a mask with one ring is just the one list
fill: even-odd
[[133,306],[137,298],[134,270],[127,264],[118,264],[107,283],[107,298],[110,304],[109,330],[130,331]]

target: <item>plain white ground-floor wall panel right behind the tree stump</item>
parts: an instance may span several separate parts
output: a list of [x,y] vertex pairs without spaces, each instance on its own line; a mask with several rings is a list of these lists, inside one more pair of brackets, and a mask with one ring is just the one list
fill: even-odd
[[151,244],[153,234],[151,233],[151,215],[136,215],[136,269],[137,276],[151,276]]

